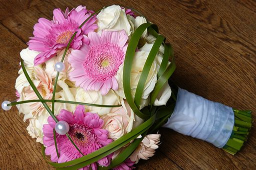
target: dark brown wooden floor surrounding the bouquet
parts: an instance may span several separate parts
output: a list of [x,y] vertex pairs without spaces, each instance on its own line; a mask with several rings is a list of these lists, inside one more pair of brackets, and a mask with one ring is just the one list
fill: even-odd
[[[182,88],[256,118],[255,0],[0,0],[0,100],[15,98],[20,55],[39,17],[59,7],[90,9],[121,4],[137,8],[173,44]],[[0,113],[0,169],[50,169],[17,108]],[[138,169],[256,169],[256,127],[235,156],[207,142],[160,129],[160,148]]]

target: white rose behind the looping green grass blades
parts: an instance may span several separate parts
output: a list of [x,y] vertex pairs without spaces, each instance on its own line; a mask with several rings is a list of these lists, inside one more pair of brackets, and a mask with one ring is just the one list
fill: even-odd
[[[153,44],[145,43],[145,45],[143,45],[143,47],[140,48],[141,51],[135,52],[135,56],[132,63],[132,70],[131,70],[131,91],[133,96],[135,95],[142,69],[144,67],[144,64],[146,62],[146,59],[148,57],[148,54],[152,46]],[[159,52],[152,63],[151,69],[149,71],[149,74],[144,86],[142,99],[140,103],[140,109],[149,104],[149,94],[152,92],[152,90],[155,87],[155,83],[157,81],[157,72],[160,68],[163,52],[164,52],[164,47],[161,45]],[[168,64],[169,63],[170,62],[168,62]],[[121,97],[126,98],[123,90],[123,65],[120,66],[116,77],[119,85],[119,89],[116,92]],[[169,84],[166,83],[162,88],[162,90],[159,92],[153,104],[165,105],[168,99],[170,98],[170,96],[171,96],[171,88]]]

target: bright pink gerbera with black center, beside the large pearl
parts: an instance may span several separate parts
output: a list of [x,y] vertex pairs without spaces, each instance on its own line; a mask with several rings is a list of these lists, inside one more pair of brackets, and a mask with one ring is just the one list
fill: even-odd
[[[58,120],[64,120],[69,123],[70,130],[68,133],[84,155],[94,152],[112,142],[112,139],[108,139],[108,131],[101,128],[104,123],[103,120],[96,113],[85,112],[83,105],[78,105],[74,114],[62,109],[57,118]],[[45,153],[51,155],[51,160],[61,163],[81,157],[82,154],[75,148],[68,137],[57,133],[56,139],[60,153],[60,157],[58,158],[53,137],[53,129],[55,128],[56,122],[49,116],[48,123],[43,126],[43,141],[46,146]],[[98,160],[97,163],[101,166],[108,166],[111,157],[112,155],[108,155]],[[85,166],[84,169],[89,169],[90,166],[92,169],[97,169],[97,163],[94,162]]]

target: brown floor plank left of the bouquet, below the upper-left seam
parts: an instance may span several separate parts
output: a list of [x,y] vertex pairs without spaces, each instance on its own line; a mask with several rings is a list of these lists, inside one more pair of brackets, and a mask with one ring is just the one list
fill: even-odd
[[[26,44],[0,24],[0,100],[15,99],[15,80],[19,70],[19,52]],[[17,108],[0,111],[0,167],[3,169],[31,169],[42,160],[41,144],[32,139],[26,127],[27,122],[19,115]]]

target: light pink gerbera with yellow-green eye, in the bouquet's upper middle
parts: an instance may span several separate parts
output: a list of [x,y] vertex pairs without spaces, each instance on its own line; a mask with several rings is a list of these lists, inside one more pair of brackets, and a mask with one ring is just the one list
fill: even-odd
[[124,30],[103,30],[101,36],[89,32],[88,37],[89,44],[83,43],[68,57],[74,68],[69,77],[76,82],[76,86],[85,90],[100,90],[105,95],[110,88],[118,89],[115,75],[124,61],[128,36]]

